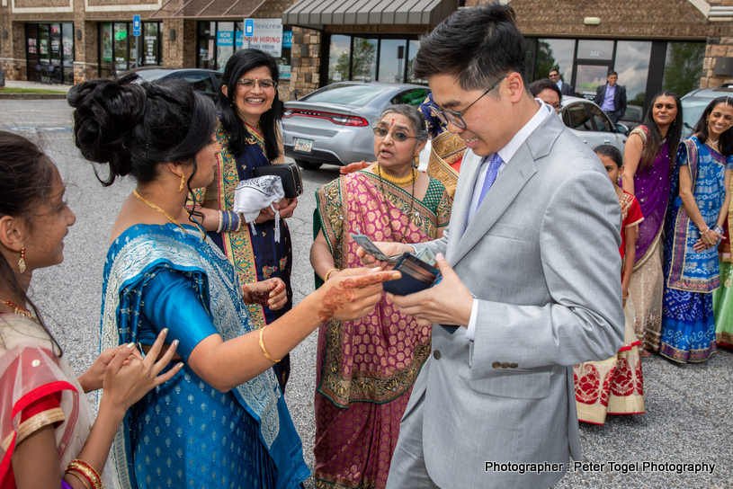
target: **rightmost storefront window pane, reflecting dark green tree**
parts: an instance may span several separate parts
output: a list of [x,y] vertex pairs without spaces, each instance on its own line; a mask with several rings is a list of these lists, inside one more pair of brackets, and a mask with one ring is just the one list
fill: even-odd
[[704,42],[667,42],[662,90],[683,96],[700,87]]

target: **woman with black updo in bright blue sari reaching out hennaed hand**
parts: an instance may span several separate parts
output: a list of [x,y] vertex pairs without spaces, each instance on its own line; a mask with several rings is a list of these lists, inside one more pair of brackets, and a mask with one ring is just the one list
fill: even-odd
[[[167,327],[185,363],[125,417],[110,456],[121,487],[299,487],[308,467],[271,368],[324,318],[371,311],[395,273],[350,271],[255,332],[237,271],[182,212],[213,179],[214,106],[183,82],[133,79],[88,81],[68,96],[76,146],[109,168],[103,184],[137,182],[104,266],[103,348],[136,342],[147,353]],[[284,304],[284,293],[248,290],[245,300],[264,291],[270,307]]]

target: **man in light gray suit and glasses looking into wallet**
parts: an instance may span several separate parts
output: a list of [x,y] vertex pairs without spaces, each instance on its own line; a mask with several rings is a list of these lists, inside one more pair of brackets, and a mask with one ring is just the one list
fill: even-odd
[[524,56],[497,3],[420,40],[415,76],[469,149],[443,237],[378,244],[445,253],[441,283],[389,296],[433,324],[389,489],[554,484],[581,459],[572,365],[622,344],[619,201],[597,156],[527,92]]

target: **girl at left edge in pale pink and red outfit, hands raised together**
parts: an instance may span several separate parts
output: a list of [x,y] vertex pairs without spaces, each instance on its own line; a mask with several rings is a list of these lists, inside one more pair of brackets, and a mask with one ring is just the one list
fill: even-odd
[[[144,360],[134,344],[121,345],[76,378],[28,298],[33,271],[64,259],[76,220],[64,184],[38,147],[5,131],[0,174],[0,489],[116,489],[105,462],[125,412],[183,365],[158,375],[175,352],[156,361],[164,332]],[[102,387],[93,424],[84,393]]]

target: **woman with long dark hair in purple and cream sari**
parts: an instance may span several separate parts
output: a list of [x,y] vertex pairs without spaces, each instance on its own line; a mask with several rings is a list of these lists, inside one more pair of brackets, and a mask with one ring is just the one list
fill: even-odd
[[631,131],[623,155],[623,190],[639,200],[644,215],[634,272],[623,296],[631,294],[636,309],[634,332],[646,350],[659,350],[664,286],[661,236],[672,188],[673,156],[681,132],[680,98],[674,92],[657,93],[644,124]]

